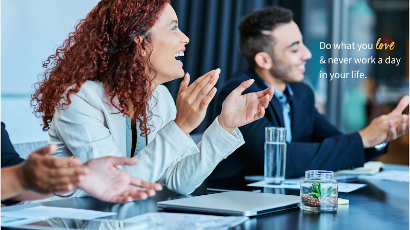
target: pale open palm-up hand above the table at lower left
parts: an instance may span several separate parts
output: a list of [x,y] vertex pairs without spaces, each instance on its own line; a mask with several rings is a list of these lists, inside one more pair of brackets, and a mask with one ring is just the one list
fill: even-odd
[[[137,158],[103,157],[91,159],[84,165],[89,173],[81,175],[78,188],[103,201],[112,203],[126,203],[136,199],[147,199],[155,195],[155,191],[162,190],[159,183],[140,180],[118,169],[117,165],[135,165]],[[134,188],[147,189],[140,190]]]

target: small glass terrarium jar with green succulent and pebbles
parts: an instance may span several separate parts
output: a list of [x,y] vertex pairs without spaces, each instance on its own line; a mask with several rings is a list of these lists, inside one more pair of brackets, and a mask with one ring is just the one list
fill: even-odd
[[300,182],[300,209],[313,212],[337,210],[338,183],[332,171],[309,170]]

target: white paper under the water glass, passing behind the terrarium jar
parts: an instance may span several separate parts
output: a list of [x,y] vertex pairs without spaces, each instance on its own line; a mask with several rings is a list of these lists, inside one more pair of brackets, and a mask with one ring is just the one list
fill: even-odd
[[[301,180],[299,180],[299,182],[297,182],[297,180],[285,180],[283,185],[268,185],[264,180],[261,180],[255,183],[250,183],[248,186],[279,189],[300,189],[300,181]],[[366,185],[363,183],[339,183],[338,191],[340,193],[350,193],[365,186]]]

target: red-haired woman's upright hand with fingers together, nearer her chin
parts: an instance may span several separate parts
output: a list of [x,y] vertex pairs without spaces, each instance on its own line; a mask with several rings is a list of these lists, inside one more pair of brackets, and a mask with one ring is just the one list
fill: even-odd
[[186,134],[198,127],[205,118],[208,105],[215,97],[216,88],[214,86],[220,73],[221,70],[217,68],[196,79],[189,86],[190,75],[188,73],[182,80],[176,98],[177,112],[174,122]]

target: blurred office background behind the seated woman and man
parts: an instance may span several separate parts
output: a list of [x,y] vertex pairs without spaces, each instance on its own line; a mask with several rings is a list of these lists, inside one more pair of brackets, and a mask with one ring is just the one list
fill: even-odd
[[[47,141],[40,119],[32,114],[30,94],[42,70],[42,61],[73,31],[79,19],[97,0],[1,2],[1,121],[13,144]],[[305,82],[315,91],[317,108],[345,133],[355,132],[390,112],[409,94],[409,2],[407,0],[171,0],[179,28],[190,38],[184,69],[191,82],[220,67],[217,88],[231,74],[246,69],[238,49],[237,26],[242,16],[266,6],[282,6],[294,12],[304,43],[312,52],[306,64]],[[395,41],[394,50],[376,50],[378,38]],[[326,50],[325,43],[373,44],[373,50]],[[401,58],[400,64],[320,64],[320,57]],[[319,73],[364,73],[366,79],[320,79]],[[166,86],[174,99],[180,80]],[[213,105],[211,104],[210,108]],[[211,109],[208,113],[212,113]],[[408,114],[408,108],[405,113]],[[194,130],[203,132],[210,117]],[[391,142],[384,163],[408,165],[408,133]]]

